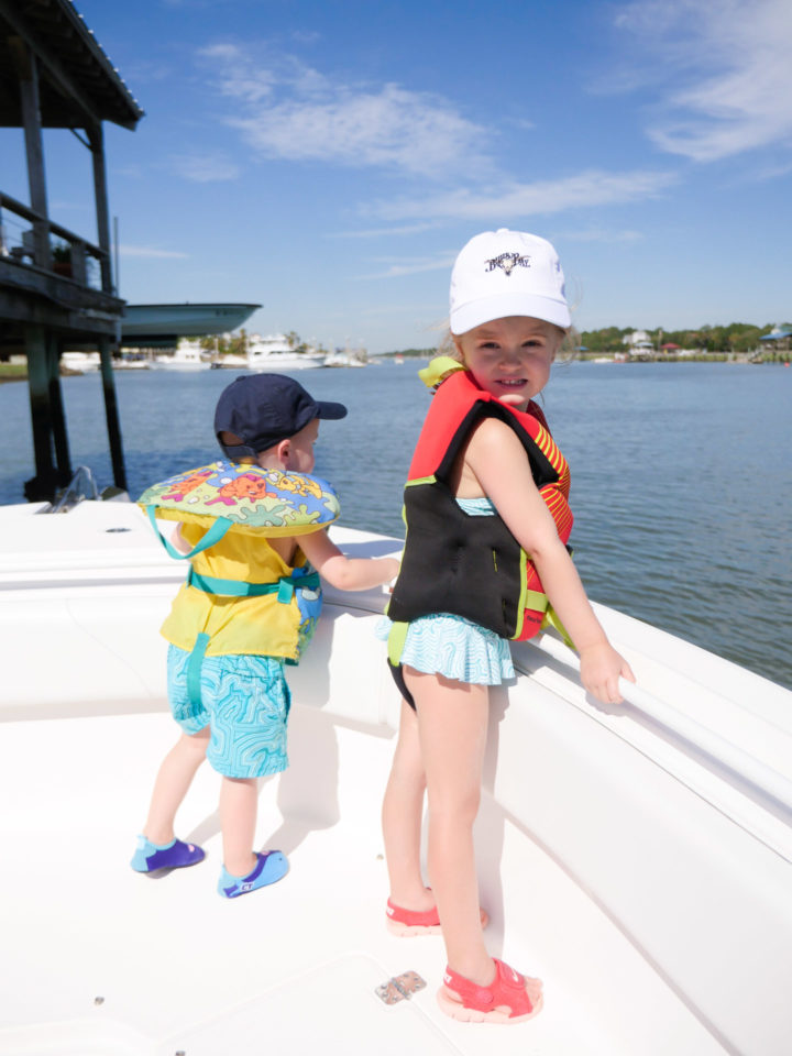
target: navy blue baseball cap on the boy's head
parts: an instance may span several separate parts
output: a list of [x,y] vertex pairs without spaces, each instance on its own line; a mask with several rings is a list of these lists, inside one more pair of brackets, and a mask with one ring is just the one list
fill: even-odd
[[[243,374],[222,391],[215,409],[215,433],[230,459],[255,455],[293,437],[315,418],[346,417],[343,404],[314,399],[299,382],[285,374]],[[233,432],[241,444],[224,444],[221,432]]]

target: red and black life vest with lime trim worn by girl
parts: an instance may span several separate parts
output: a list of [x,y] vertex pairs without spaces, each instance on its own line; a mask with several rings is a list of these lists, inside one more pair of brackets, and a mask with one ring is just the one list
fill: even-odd
[[388,605],[388,616],[398,625],[392,632],[393,662],[400,656],[406,625],[419,616],[452,613],[518,640],[531,638],[548,620],[548,598],[536,568],[506,524],[498,515],[470,516],[450,487],[454,461],[481,420],[497,418],[514,429],[564,543],[573,520],[569,465],[536,404],[527,413],[502,404],[450,358],[432,361],[421,376],[439,387],[405,486],[405,552]]

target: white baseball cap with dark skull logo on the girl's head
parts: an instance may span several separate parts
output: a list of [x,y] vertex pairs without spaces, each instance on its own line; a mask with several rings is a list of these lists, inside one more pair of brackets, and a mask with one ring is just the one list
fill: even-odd
[[499,228],[472,238],[454,262],[451,333],[507,316],[531,316],[563,328],[572,321],[552,245],[539,235]]

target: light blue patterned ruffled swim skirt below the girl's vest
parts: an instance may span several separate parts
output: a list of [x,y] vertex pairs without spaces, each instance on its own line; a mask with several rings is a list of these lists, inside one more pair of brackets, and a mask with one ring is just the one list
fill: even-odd
[[[392,626],[387,617],[380,620],[377,638],[387,641]],[[499,685],[515,676],[506,639],[451,613],[414,619],[407,628],[400,662],[425,674],[442,674],[476,685]]]

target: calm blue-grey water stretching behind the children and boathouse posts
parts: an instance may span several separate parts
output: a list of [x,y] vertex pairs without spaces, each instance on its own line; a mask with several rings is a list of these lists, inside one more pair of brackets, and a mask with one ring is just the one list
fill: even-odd
[[[230,371],[116,375],[130,491],[217,457]],[[306,371],[348,418],[322,425],[316,472],[341,521],[400,536],[402,487],[429,395],[409,361]],[[111,482],[98,375],[63,380],[72,460]],[[575,561],[590,595],[792,688],[792,370],[558,365],[544,394],[572,465]],[[28,388],[0,385],[0,503],[33,473]]]

